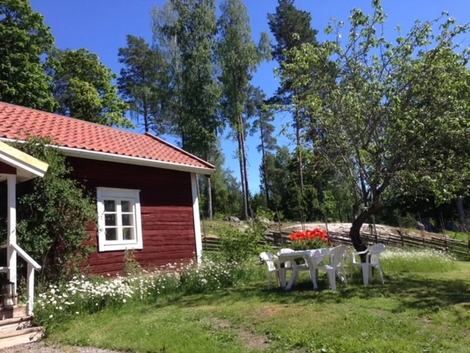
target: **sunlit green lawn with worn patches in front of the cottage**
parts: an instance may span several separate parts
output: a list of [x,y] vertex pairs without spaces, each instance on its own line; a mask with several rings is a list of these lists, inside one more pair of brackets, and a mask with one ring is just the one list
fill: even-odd
[[47,341],[128,352],[470,351],[470,264],[441,273],[389,273],[385,286],[340,285],[304,273],[291,292],[266,282],[212,294],[131,304],[79,316]]

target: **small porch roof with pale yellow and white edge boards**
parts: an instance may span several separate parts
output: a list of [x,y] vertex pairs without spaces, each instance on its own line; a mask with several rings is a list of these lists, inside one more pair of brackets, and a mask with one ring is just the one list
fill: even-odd
[[47,167],[47,163],[0,141],[0,181],[6,174],[16,174],[17,182],[42,177]]

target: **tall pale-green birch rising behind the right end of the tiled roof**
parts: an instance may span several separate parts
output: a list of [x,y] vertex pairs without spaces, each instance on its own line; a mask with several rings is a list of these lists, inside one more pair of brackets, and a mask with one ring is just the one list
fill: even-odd
[[188,152],[209,159],[223,124],[213,66],[217,23],[213,0],[169,0],[154,8],[153,31],[170,65],[172,125]]

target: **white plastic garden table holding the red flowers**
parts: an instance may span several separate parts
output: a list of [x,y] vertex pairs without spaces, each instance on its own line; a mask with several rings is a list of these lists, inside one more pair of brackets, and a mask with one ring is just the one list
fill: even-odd
[[298,273],[297,264],[295,260],[304,259],[310,270],[310,276],[313,282],[313,289],[317,289],[317,278],[318,270],[316,269],[317,265],[321,262],[323,257],[329,252],[329,248],[326,249],[313,249],[313,250],[294,250],[287,253],[279,254],[278,259],[280,263],[285,263],[290,261],[292,265],[292,274],[290,276],[289,283],[286,285],[285,289],[289,290],[294,284],[295,278]]

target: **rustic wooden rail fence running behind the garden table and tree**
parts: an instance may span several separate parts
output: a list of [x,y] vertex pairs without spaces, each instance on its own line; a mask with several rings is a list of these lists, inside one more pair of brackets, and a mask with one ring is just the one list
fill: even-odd
[[[281,248],[289,244],[289,233],[279,233],[272,232],[265,235],[262,241],[259,242],[260,245],[268,244],[274,248]],[[470,242],[458,241],[452,238],[447,237],[417,237],[412,235],[405,234],[367,234],[361,233],[361,238],[364,242],[368,244],[372,243],[383,243],[388,246],[393,247],[414,247],[414,248],[431,248],[440,251],[445,251],[453,254],[457,259],[468,260],[470,259]],[[351,238],[349,234],[338,233],[338,232],[329,232],[329,241],[332,245],[346,244],[352,245]],[[203,239],[203,249],[206,251],[217,251],[220,248],[220,239],[219,238],[204,238]]]

